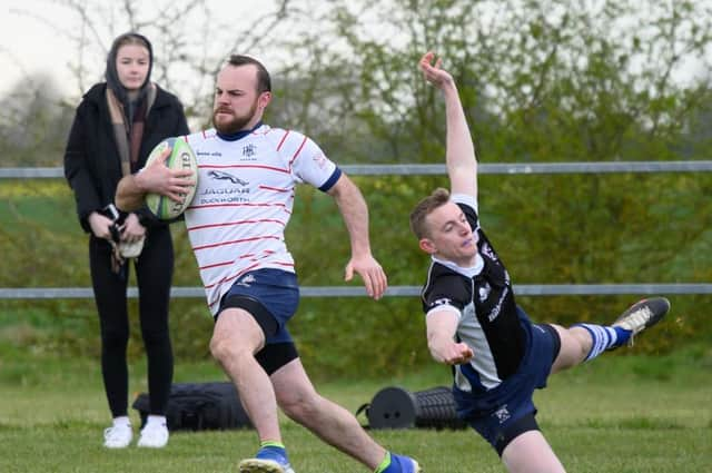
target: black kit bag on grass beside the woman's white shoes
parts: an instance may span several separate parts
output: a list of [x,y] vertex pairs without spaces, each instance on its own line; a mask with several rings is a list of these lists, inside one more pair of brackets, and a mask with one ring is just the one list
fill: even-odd
[[[139,394],[132,407],[141,416],[149,414],[147,393]],[[233,383],[176,383],[170,387],[166,420],[169,431],[251,428]]]

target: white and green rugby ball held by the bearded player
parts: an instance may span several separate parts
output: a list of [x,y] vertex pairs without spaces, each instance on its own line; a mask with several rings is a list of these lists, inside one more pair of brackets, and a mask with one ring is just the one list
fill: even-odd
[[196,186],[198,185],[198,160],[192,152],[190,145],[182,138],[167,138],[156,145],[148,155],[146,166],[149,166],[166,150],[171,148],[170,155],[166,158],[166,166],[170,169],[189,169],[192,171],[194,185],[186,188],[184,200],[178,203],[160,194],[146,194],[146,206],[157,218],[161,220],[172,220],[179,217],[196,195]]

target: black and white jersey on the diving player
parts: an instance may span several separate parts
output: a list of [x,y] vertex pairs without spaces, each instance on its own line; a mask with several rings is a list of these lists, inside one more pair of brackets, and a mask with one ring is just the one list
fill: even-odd
[[455,384],[466,392],[488,391],[516,372],[525,351],[525,332],[510,275],[479,226],[476,201],[463,195],[452,199],[478,237],[477,265],[461,268],[434,257],[421,293],[423,309],[457,314],[456,338],[474,356],[469,364],[455,366]]

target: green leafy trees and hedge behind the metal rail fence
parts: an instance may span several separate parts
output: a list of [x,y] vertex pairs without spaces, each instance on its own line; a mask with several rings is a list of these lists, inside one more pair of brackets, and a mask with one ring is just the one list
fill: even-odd
[[[87,2],[62,3],[77,8]],[[306,132],[339,164],[443,162],[442,100],[416,70],[425,50],[441,55],[458,82],[481,162],[709,159],[712,96],[704,55],[711,46],[712,6],[706,1],[601,0],[582,8],[577,1],[544,0],[284,0],[257,22],[236,21],[231,28],[218,27],[209,1],[172,2],[160,18],[137,1],[89,4],[80,17],[82,28],[71,31],[81,87],[73,97],[59,97],[51,78],[36,78],[4,97],[2,166],[61,166],[73,107],[93,81],[89,62],[79,58],[93,51],[93,62],[103,63],[100,46],[128,29],[151,38],[157,65],[162,65],[154,79],[179,92],[196,128],[209,126],[212,76],[226,53],[265,59],[274,66],[276,96],[266,121]],[[181,14],[195,16],[207,28],[196,27],[198,39],[167,32],[167,19]],[[698,73],[682,80],[691,60]],[[407,214],[423,195],[446,185],[444,177],[356,180],[370,207],[374,252],[389,283],[422,284],[427,262],[408,233]],[[712,177],[705,174],[484,175],[479,188],[483,226],[515,284],[712,278],[706,250],[712,244]],[[300,280],[343,284],[338,262],[348,252],[343,223],[330,217],[332,204],[318,193],[301,189],[299,197],[287,238]],[[59,198],[71,207],[67,194]],[[14,245],[3,252],[8,264],[0,285],[62,280],[87,286],[86,265],[62,264],[66,255],[85,257],[76,223],[57,223],[50,231],[46,221],[32,220],[28,208],[18,204],[12,221],[29,225],[34,238],[0,230],[7,236],[2,245]],[[68,215],[73,218],[71,209]],[[198,285],[185,233],[178,227],[175,235],[176,285]],[[323,258],[325,252],[334,256]],[[38,254],[44,255],[41,263],[30,257]],[[27,265],[51,269],[10,270]],[[542,322],[602,323],[631,299],[528,297],[525,305]],[[700,309],[709,303],[703,295],[673,298],[674,317],[644,341],[647,351],[709,339]],[[56,304],[60,314],[71,305]],[[201,326],[209,318],[202,302],[175,304],[177,352],[207,356]],[[325,373],[354,366],[385,373],[427,357],[417,299],[305,299],[299,311],[294,332],[304,342],[305,361]],[[349,336],[338,341],[334,356],[325,356],[334,333]],[[80,341],[72,336],[67,344],[92,338]],[[367,357],[364,346],[372,351]]]

